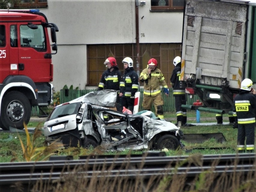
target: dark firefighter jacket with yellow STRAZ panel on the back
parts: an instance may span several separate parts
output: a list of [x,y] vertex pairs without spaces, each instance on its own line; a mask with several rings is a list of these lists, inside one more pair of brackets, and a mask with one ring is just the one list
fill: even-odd
[[241,125],[255,123],[256,98],[246,90],[240,90],[233,103],[233,116]]

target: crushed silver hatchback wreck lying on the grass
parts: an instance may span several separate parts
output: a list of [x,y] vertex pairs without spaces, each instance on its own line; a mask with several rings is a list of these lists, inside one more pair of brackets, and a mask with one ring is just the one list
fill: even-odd
[[108,151],[125,149],[177,149],[183,132],[151,111],[124,114],[114,107],[117,92],[91,92],[56,106],[44,123],[46,142],[84,148],[101,145]]

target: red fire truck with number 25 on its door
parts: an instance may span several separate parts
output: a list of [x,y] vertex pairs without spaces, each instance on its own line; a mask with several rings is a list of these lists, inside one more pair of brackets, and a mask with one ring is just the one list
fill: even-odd
[[57,31],[57,26],[48,23],[39,10],[0,10],[2,129],[23,129],[23,122],[29,122],[32,106],[40,108],[52,102],[53,85],[49,82],[53,81],[51,58],[57,53]]

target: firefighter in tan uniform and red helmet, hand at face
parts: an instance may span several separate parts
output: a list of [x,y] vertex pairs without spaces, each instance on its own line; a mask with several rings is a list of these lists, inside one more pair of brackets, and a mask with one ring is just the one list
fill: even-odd
[[163,86],[164,93],[168,96],[169,90],[164,80],[163,73],[157,68],[157,60],[152,58],[148,61],[148,68],[143,69],[139,80],[144,83],[142,106],[145,110],[151,111],[154,103],[156,116],[163,119],[163,99],[161,96],[160,85]]

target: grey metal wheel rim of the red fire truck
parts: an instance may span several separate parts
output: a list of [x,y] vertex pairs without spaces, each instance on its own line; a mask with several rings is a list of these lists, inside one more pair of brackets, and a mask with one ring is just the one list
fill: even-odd
[[24,116],[23,105],[17,100],[10,102],[7,107],[7,116],[13,122],[20,121]]

